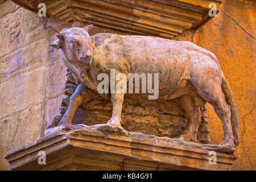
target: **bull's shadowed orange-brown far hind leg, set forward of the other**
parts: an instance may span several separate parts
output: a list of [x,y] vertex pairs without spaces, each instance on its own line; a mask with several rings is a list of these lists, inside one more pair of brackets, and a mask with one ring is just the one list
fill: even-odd
[[[187,125],[183,133],[179,135],[180,139],[190,141],[192,140],[192,135],[196,131],[196,127],[199,125],[201,118],[199,112],[199,106],[196,104],[196,97],[189,94],[181,96],[178,98],[182,109],[185,111],[187,118]],[[200,100],[200,98],[199,98]],[[203,102],[201,102],[203,105]]]

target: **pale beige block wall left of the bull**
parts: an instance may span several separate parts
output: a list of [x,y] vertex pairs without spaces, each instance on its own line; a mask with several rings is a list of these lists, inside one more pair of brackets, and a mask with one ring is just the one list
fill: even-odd
[[5,152],[43,136],[63,97],[66,68],[43,23],[11,1],[0,4],[0,169],[10,168]]

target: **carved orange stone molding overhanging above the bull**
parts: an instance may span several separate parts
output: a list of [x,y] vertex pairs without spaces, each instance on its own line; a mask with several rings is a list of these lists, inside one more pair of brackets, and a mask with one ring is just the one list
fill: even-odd
[[211,0],[82,0],[82,1],[21,1],[13,0],[37,12],[38,4],[46,3],[46,13],[65,22],[91,23],[130,34],[159,36],[172,39],[189,28],[207,22]]

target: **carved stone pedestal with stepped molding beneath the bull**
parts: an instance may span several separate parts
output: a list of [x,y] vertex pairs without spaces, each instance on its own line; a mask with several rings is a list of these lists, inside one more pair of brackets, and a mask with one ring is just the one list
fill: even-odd
[[[85,125],[55,127],[46,136],[8,152],[13,170],[230,170],[236,156],[217,152],[209,164],[202,144],[142,133],[92,130]],[[39,151],[46,164],[38,164]]]

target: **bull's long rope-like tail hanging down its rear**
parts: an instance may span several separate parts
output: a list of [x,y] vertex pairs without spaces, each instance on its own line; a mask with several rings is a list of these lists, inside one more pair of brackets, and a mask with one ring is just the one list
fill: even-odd
[[234,144],[235,144],[235,146],[238,146],[238,144],[240,143],[240,140],[239,140],[240,127],[239,127],[237,105],[236,105],[236,101],[234,100],[233,92],[229,86],[228,81],[226,80],[225,76],[223,75],[223,73],[222,73],[221,88],[225,95],[226,103],[230,106],[231,125],[232,125],[232,130],[233,130],[233,135],[234,135]]

